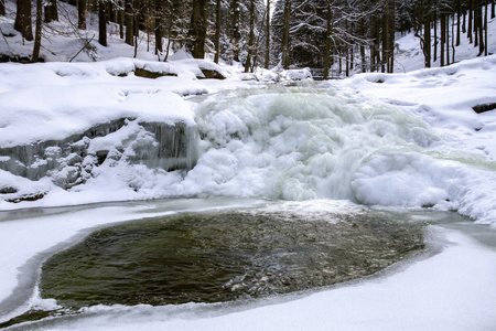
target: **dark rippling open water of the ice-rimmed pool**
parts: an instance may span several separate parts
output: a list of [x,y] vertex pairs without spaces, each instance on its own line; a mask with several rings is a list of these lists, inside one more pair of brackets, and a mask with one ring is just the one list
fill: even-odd
[[422,247],[421,223],[391,214],[185,213],[96,231],[43,265],[40,288],[67,308],[219,302],[363,277]]

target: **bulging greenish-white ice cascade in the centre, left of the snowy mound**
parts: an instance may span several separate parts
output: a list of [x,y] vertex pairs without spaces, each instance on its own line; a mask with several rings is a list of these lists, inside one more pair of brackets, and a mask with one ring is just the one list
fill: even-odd
[[196,114],[205,150],[187,193],[355,201],[355,174],[371,154],[439,141],[418,118],[330,89],[227,92]]

